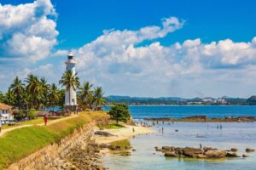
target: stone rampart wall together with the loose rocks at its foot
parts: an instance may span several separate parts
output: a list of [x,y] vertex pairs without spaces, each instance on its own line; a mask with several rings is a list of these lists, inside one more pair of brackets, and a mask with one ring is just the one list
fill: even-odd
[[74,130],[58,143],[26,156],[10,165],[9,170],[59,170],[59,169],[102,169],[98,161],[98,146],[92,139],[95,123]]

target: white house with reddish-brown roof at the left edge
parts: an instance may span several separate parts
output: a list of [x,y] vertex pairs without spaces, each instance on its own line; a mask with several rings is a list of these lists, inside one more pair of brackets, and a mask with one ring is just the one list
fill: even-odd
[[14,120],[14,116],[11,115],[12,106],[0,103],[0,121],[3,124],[9,123],[10,120]]

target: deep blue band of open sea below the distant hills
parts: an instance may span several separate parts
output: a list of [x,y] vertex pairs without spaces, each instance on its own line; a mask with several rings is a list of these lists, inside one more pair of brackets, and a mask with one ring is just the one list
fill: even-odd
[[[103,108],[109,111],[109,106]],[[208,117],[256,116],[253,105],[130,105],[129,110],[135,119],[144,117],[184,117],[206,115]]]

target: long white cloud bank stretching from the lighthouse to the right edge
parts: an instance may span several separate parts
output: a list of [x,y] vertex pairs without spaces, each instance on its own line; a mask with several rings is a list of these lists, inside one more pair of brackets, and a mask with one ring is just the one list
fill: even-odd
[[[136,47],[183,26],[183,21],[175,19],[169,29],[166,20],[162,27],[104,31],[95,41],[77,49],[75,55],[82,80],[101,83],[108,94],[192,97],[233,95],[233,90],[240,96],[252,93],[247,89],[253,89],[256,81],[250,80],[252,75],[247,71],[252,71],[255,67],[250,65],[256,64],[255,37],[251,42],[226,39],[203,43],[197,38],[171,46],[153,42]],[[236,86],[231,88],[230,82],[236,82]],[[244,94],[237,90],[243,86],[247,87]],[[221,88],[218,93],[213,90],[216,87]]]

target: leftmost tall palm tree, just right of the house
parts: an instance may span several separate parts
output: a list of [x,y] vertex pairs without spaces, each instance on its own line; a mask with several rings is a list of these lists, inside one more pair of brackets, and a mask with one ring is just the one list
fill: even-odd
[[15,105],[18,106],[18,108],[20,109],[22,106],[21,100],[24,92],[24,83],[21,82],[19,77],[15,77],[15,80],[10,85],[9,89],[15,95]]

